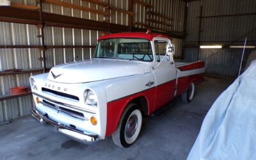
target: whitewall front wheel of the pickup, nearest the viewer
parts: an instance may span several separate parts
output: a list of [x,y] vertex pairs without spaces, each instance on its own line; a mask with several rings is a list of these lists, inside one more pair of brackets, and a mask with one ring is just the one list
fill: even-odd
[[112,140],[119,147],[129,147],[137,140],[142,124],[141,111],[137,104],[129,104],[125,109]]

